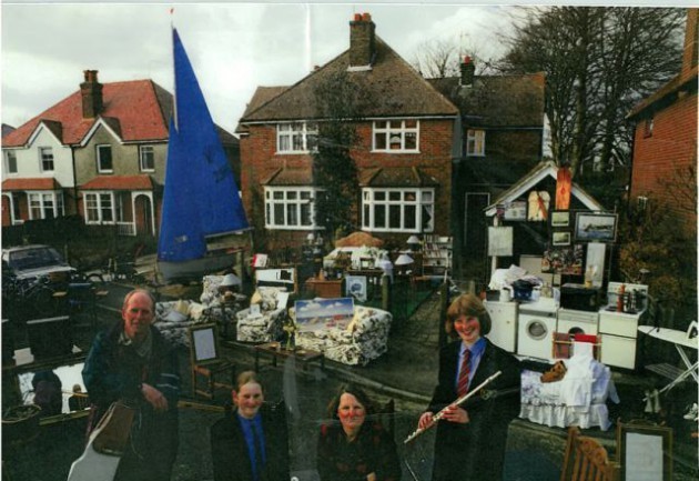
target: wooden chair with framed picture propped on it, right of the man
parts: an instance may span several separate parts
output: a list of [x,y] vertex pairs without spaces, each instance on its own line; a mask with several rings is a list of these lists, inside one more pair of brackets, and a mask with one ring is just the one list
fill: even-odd
[[[190,328],[190,361],[192,398],[199,394],[213,401],[217,388],[225,388],[230,392],[235,385],[235,364],[221,357],[216,324],[195,324]],[[205,389],[199,388],[200,378],[205,379]]]

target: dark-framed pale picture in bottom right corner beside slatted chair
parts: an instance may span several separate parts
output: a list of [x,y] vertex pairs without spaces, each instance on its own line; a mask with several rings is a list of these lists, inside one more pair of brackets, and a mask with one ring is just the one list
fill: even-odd
[[672,429],[617,422],[621,481],[672,480]]

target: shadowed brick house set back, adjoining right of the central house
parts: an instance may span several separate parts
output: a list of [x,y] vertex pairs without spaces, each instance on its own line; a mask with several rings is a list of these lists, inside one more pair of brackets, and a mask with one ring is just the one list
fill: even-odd
[[544,73],[476,76],[465,57],[460,76],[429,82],[460,112],[459,156],[454,159],[455,274],[487,278],[484,210],[537,166],[545,150]]

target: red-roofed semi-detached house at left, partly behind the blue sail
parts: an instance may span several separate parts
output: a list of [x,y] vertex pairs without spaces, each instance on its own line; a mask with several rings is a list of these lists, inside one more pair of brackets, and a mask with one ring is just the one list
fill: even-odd
[[[80,90],[2,138],[2,226],[80,214],[123,236],[156,236],[172,94],[151,80]],[[237,139],[219,129],[231,164]],[[234,171],[237,167],[234,167]]]

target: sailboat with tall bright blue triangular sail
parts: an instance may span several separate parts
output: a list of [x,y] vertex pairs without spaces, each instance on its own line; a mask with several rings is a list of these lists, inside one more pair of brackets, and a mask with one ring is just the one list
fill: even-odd
[[206,238],[249,229],[233,171],[176,29],[172,42],[174,112],[158,241],[158,269],[165,281],[201,279],[232,267],[237,251],[210,251]]

